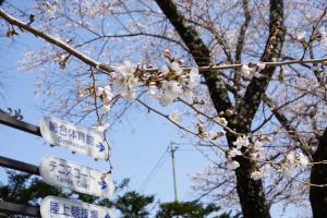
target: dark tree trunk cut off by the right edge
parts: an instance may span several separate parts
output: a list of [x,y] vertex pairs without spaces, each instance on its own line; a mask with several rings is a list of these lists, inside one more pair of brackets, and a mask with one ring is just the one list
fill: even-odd
[[[313,154],[313,161],[327,160],[327,128],[319,138],[317,150]],[[327,165],[314,165],[311,169],[311,183],[317,185],[327,184]],[[327,186],[311,186],[310,202],[314,218],[327,217]]]

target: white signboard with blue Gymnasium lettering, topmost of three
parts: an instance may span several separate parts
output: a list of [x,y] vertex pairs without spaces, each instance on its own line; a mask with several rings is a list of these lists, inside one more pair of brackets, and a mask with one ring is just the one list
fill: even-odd
[[80,128],[46,117],[40,121],[40,132],[50,145],[65,147],[96,159],[107,160],[109,158],[109,145],[102,133],[96,130]]

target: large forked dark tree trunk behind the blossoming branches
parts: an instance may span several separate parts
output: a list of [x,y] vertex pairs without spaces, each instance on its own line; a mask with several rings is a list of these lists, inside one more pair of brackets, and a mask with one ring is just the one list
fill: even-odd
[[[183,14],[178,11],[173,1],[156,0],[156,2],[179,33],[197,65],[209,65],[211,63],[211,57],[208,48],[197,32],[187,23]],[[270,0],[269,38],[266,49],[263,52],[262,61],[276,61],[279,58],[284,38],[282,23],[283,1]],[[270,40],[271,36],[275,36],[272,43]],[[262,96],[268,86],[274,71],[275,68],[266,68],[262,72],[262,74],[265,75],[263,78],[254,78],[251,82],[240,107],[235,109],[237,117],[229,119],[230,128],[245,134],[251,131],[250,128],[253,117],[257,111]],[[217,113],[231,108],[232,104],[228,97],[226,84],[221,78],[220,72],[208,71],[204,72],[203,75]],[[232,146],[232,142],[235,141],[235,137],[234,135],[228,134],[227,140],[230,146]],[[251,179],[253,162],[244,157],[238,157],[237,160],[240,162],[240,168],[235,172],[238,182],[237,189],[244,218],[269,218],[269,207],[267,206],[263,183],[261,180],[254,181]]]

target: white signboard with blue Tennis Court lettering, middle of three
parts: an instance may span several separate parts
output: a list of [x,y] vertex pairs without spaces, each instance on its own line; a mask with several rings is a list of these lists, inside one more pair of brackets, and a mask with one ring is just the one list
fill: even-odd
[[109,197],[113,192],[110,174],[64,159],[45,157],[39,171],[51,185],[101,197]]

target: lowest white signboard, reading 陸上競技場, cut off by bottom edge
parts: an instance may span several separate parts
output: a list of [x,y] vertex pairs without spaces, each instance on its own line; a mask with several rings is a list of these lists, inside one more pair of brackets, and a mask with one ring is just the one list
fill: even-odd
[[47,196],[40,205],[43,218],[113,218],[110,209],[97,205]]

